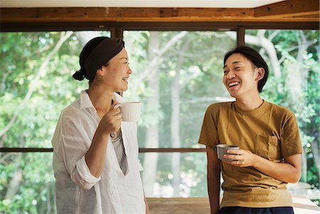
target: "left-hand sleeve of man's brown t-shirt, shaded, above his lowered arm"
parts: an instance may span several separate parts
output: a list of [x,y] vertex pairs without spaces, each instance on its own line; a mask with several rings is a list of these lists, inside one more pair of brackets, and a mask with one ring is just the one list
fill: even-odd
[[216,112],[214,112],[213,108],[209,106],[206,110],[205,116],[203,117],[203,124],[198,141],[199,144],[213,147],[218,142],[218,132],[214,113]]

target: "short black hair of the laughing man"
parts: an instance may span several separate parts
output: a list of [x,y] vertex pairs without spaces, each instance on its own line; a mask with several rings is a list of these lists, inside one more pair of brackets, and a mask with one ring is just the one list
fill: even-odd
[[239,46],[233,50],[230,50],[228,53],[225,54],[225,58],[223,60],[223,65],[225,65],[225,61],[228,60],[230,55],[233,55],[234,53],[240,53],[245,58],[250,60],[250,62],[253,65],[255,65],[257,68],[263,68],[265,70],[265,75],[262,77],[261,80],[259,80],[258,85],[257,85],[258,91],[261,92],[262,88],[265,86],[265,82],[267,82],[267,78],[269,75],[268,65],[265,62],[265,60],[254,49],[252,49],[248,46]]

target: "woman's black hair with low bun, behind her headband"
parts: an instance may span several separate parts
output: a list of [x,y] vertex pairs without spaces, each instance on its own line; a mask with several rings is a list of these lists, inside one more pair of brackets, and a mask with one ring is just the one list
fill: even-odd
[[102,41],[105,40],[105,36],[100,36],[100,37],[96,37],[96,38],[92,38],[92,40],[90,40],[85,47],[83,47],[80,56],[79,56],[79,64],[80,64],[80,70],[78,70],[77,72],[75,72],[73,74],[73,78],[75,80],[83,80],[85,79],[85,61],[87,60],[87,57],[90,55],[90,53],[92,52],[93,49],[95,49],[95,47],[97,47],[97,45],[99,45]]

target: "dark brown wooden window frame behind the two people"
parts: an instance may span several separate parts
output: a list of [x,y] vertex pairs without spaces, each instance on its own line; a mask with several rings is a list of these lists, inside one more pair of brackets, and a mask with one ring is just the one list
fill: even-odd
[[[317,22],[215,22],[215,21],[79,21],[79,22],[5,22],[1,23],[1,32],[36,31],[110,31],[111,37],[123,38],[124,31],[235,31],[237,45],[245,45],[245,30],[281,29],[281,30],[319,30]],[[53,148],[0,147],[1,152],[53,152]],[[204,148],[140,148],[139,153],[149,152],[206,152]]]

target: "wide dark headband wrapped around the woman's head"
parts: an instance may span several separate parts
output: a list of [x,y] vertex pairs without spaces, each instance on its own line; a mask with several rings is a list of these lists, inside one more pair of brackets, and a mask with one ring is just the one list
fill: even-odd
[[102,41],[85,60],[85,77],[93,80],[96,71],[111,60],[124,48],[124,41],[119,38],[106,38]]

